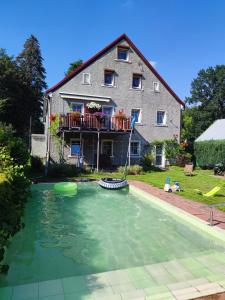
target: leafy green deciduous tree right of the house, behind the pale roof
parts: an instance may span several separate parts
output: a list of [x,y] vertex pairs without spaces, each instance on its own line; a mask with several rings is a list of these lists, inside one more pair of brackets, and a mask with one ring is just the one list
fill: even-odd
[[187,126],[190,127],[191,118],[192,132],[185,134],[193,139],[215,120],[225,118],[225,65],[200,70],[191,84],[191,97],[186,98],[186,103],[189,108],[183,116],[184,131],[190,130]]

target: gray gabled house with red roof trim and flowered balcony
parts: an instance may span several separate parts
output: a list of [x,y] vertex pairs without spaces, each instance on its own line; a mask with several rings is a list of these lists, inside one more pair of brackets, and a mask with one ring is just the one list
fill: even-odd
[[[98,169],[124,165],[129,149],[129,163],[138,164],[149,142],[180,136],[183,106],[123,34],[47,90],[47,159]],[[49,130],[56,117],[57,143]],[[136,124],[128,144],[132,118]],[[155,151],[155,164],[164,166],[163,147]]]

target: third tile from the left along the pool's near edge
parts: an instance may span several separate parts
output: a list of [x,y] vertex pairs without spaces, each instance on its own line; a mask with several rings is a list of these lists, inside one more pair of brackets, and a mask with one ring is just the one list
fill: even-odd
[[61,279],[39,282],[38,294],[39,297],[63,294]]

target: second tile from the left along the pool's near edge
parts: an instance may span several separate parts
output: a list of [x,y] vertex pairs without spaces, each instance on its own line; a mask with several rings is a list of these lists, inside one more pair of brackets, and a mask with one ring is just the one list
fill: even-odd
[[38,298],[38,283],[13,287],[12,300],[27,300],[32,298]]

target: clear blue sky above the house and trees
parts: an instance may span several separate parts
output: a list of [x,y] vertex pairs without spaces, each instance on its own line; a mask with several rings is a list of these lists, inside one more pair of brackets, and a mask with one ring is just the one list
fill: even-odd
[[223,0],[3,0],[0,10],[0,47],[16,56],[34,34],[49,87],[122,33],[182,99],[201,68],[225,62]]

